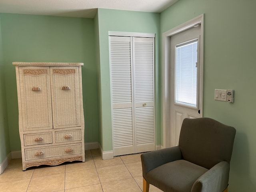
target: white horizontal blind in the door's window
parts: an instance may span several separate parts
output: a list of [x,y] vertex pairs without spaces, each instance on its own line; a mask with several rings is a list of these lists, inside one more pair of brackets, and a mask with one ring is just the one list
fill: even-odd
[[175,102],[197,107],[197,46],[193,40],[176,46]]

